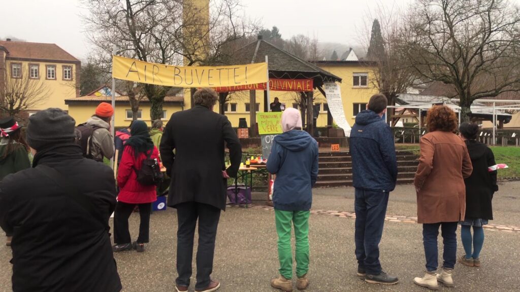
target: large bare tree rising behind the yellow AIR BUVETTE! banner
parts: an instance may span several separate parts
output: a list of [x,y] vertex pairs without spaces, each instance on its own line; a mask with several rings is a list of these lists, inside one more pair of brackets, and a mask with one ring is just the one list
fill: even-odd
[[[248,34],[237,17],[238,0],[212,0],[211,17],[190,1],[83,0],[90,11],[85,22],[95,46],[91,59],[110,72],[112,45],[116,54],[161,64],[213,65],[231,56],[233,41]],[[145,84],[150,116],[162,116],[170,87]]]

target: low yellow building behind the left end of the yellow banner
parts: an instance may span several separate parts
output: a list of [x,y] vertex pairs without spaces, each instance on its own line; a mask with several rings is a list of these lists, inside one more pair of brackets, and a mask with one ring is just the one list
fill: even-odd
[[[170,120],[170,116],[174,112],[184,110],[183,100],[184,97],[182,95],[166,96],[164,98],[162,120],[165,121],[165,123]],[[69,107],[69,114],[76,120],[77,124],[86,122],[88,118],[95,113],[96,107],[101,102],[112,103],[111,90],[107,86],[101,86],[86,96],[70,98],[65,101]],[[137,119],[145,121],[148,126],[151,126],[150,106],[150,101],[143,98],[139,102],[139,111],[137,113]],[[130,107],[128,96],[123,96],[116,91],[114,111],[115,127],[122,128],[128,126],[132,121],[132,116],[132,108]]]

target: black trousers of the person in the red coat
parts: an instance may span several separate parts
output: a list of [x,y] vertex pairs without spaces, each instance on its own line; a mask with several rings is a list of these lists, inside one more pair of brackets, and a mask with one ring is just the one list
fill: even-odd
[[118,202],[115,205],[114,213],[114,243],[125,244],[132,243],[130,238],[130,231],[128,230],[128,218],[132,215],[135,206],[139,206],[139,216],[141,222],[139,223],[139,237],[138,243],[147,243],[150,237],[150,213],[152,211],[152,204],[128,204]]

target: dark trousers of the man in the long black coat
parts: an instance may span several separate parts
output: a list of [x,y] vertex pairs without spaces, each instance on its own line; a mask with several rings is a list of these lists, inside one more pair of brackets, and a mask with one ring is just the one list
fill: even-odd
[[175,206],[177,208],[177,273],[175,281],[179,286],[189,286],[191,277],[191,261],[193,258],[193,236],[195,225],[199,219],[199,247],[197,249],[197,283],[196,289],[204,289],[210,285],[213,272],[213,255],[215,237],[217,235],[220,209],[211,205],[188,202]]

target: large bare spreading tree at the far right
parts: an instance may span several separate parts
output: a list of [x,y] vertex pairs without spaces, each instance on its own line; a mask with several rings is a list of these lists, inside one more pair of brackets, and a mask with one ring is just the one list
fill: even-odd
[[475,99],[520,90],[520,12],[509,0],[418,0],[407,56],[422,78],[450,85],[469,121]]

